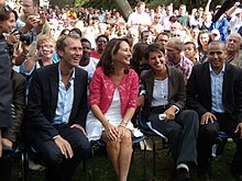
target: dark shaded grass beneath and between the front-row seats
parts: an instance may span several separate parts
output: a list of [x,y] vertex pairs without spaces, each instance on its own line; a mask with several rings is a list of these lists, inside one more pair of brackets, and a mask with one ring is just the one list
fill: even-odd
[[[158,146],[160,147],[160,146]],[[212,161],[212,180],[213,181],[234,181],[230,173],[230,162],[235,149],[234,143],[228,143],[224,154]],[[96,152],[96,181],[116,181],[114,170],[103,150],[95,148]],[[146,159],[146,179],[148,181],[173,181],[175,180],[174,161],[167,149],[156,149],[156,178],[152,176],[152,151],[147,150]],[[81,165],[82,166],[82,165]],[[84,180],[82,167],[79,167],[73,178],[74,181]],[[135,149],[134,158],[131,165],[129,181],[142,181],[143,177],[143,150]],[[91,181],[91,159],[88,161],[88,180]],[[197,177],[197,171],[191,170],[193,181],[202,181]],[[20,165],[16,159],[16,165],[13,170],[12,181],[19,181],[21,178]],[[31,171],[31,181],[44,181],[44,172]]]

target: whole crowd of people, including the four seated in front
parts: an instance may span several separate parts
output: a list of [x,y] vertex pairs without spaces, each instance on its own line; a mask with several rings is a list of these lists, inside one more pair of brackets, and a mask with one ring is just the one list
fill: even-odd
[[188,13],[140,1],[125,21],[116,9],[0,1],[0,180],[10,180],[7,154],[16,147],[40,152],[47,180],[72,180],[101,139],[127,181],[141,111],[168,139],[177,181],[194,167],[211,180],[220,131],[237,144],[231,171],[241,181],[242,9],[234,3],[213,22],[224,7],[210,3]]

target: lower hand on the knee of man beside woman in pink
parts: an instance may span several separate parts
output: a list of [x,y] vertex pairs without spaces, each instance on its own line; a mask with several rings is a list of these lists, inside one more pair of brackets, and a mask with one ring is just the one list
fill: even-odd
[[73,158],[73,149],[66,139],[62,138],[62,136],[57,136],[55,138],[55,144],[58,146],[65,158]]

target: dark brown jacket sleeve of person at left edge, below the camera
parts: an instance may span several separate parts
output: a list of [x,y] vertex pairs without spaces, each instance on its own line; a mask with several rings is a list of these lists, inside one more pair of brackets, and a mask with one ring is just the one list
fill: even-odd
[[11,84],[12,84],[12,125],[4,129],[3,137],[12,142],[16,142],[16,136],[20,132],[20,126],[22,124],[23,115],[25,111],[26,80],[21,73],[11,70]]

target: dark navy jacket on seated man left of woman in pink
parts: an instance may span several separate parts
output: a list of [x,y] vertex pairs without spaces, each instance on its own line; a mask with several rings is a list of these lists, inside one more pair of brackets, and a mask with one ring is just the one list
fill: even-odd
[[[87,106],[87,71],[75,68],[74,103],[68,124],[86,127]],[[25,132],[29,139],[40,134],[44,140],[58,135],[52,125],[58,99],[58,64],[35,70],[29,92]]]

